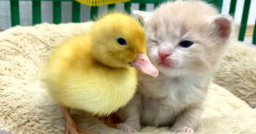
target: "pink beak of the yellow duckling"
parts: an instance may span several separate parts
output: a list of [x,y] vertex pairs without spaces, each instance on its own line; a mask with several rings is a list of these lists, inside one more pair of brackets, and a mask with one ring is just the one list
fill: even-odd
[[141,72],[153,77],[158,76],[158,69],[150,62],[149,57],[146,54],[138,53],[136,60],[131,62],[132,67],[136,67]]

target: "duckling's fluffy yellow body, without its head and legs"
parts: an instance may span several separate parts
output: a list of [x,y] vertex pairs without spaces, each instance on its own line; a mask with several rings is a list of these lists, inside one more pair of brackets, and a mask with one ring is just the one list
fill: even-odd
[[54,87],[49,88],[50,95],[60,104],[93,114],[110,114],[135,93],[136,70],[107,67],[94,60],[89,38],[79,35],[55,49],[44,75]]

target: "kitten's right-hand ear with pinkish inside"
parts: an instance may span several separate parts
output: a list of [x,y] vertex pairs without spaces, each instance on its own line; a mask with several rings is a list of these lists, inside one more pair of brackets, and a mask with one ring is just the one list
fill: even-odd
[[212,20],[212,25],[217,28],[220,38],[228,39],[233,29],[233,19],[230,15],[217,15]]

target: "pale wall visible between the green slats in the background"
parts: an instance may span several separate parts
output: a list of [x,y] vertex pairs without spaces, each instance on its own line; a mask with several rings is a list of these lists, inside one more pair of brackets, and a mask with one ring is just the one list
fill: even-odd
[[[235,22],[241,22],[244,0],[237,0]],[[71,2],[62,2],[62,22],[71,22]],[[152,10],[153,5],[148,4],[147,10]],[[230,0],[224,0],[222,14],[228,14]],[[53,23],[53,3],[51,1],[42,1],[42,22]],[[139,9],[138,4],[132,4],[133,9]],[[117,9],[123,10],[123,4],[117,4]],[[99,7],[99,12],[106,11],[106,6]],[[90,18],[90,8],[81,4],[81,22],[88,21]],[[248,24],[255,24],[256,17],[256,0],[251,1]],[[31,1],[20,1],[20,25],[32,25],[32,8]],[[0,1],[0,29],[10,28],[10,10],[9,1]]]

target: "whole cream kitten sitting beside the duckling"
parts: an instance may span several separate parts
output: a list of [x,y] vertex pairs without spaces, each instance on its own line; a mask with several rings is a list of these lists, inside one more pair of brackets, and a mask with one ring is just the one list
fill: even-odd
[[160,74],[139,75],[139,90],[118,116],[125,133],[141,125],[194,133],[212,72],[222,58],[232,18],[202,1],[174,1],[155,12],[133,11],[145,24],[147,52]]

